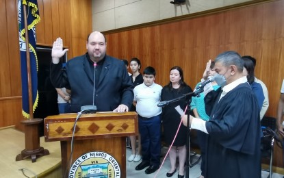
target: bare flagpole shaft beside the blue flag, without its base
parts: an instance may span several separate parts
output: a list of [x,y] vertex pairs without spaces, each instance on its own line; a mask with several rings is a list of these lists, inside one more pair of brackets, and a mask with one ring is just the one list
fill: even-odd
[[31,88],[31,59],[29,56],[29,31],[27,30],[27,10],[26,5],[23,5],[24,11],[24,24],[25,24],[25,47],[26,47],[26,56],[27,56],[27,86],[29,92],[29,119],[34,118],[34,110],[33,110],[33,96],[32,96],[32,88]]

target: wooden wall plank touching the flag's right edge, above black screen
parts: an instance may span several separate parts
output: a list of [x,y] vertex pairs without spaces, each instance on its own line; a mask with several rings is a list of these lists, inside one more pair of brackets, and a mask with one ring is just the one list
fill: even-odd
[[36,25],[36,42],[40,44],[46,44],[43,0],[38,0],[38,11],[40,12],[40,23]]

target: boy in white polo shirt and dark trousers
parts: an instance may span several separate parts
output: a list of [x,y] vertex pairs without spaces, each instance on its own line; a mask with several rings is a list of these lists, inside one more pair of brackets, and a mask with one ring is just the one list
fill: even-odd
[[141,136],[142,162],[135,170],[145,170],[146,174],[154,173],[160,164],[161,153],[161,118],[162,107],[157,104],[161,99],[162,86],[155,84],[155,68],[148,66],[143,71],[144,83],[133,90],[138,113],[138,128]]

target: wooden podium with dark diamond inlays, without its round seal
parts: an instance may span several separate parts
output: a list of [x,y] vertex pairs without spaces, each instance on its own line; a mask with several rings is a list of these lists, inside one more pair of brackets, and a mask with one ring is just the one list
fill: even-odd
[[[60,141],[62,175],[68,171],[71,139],[77,114],[60,114],[44,118],[46,142]],[[103,151],[117,160],[121,177],[126,177],[126,137],[138,135],[136,112],[97,112],[82,114],[77,120],[73,142],[72,164],[92,151]]]

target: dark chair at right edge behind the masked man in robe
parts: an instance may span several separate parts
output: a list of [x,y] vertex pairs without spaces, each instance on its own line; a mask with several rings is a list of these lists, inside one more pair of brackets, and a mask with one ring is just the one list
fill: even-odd
[[269,169],[262,169],[269,172],[268,177],[272,177],[273,146],[274,139],[279,139],[276,135],[276,118],[264,116],[261,120],[263,137],[261,138],[261,158],[270,160]]

